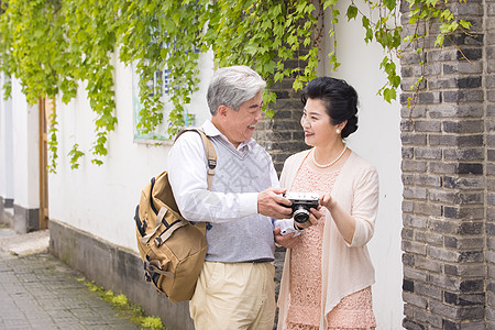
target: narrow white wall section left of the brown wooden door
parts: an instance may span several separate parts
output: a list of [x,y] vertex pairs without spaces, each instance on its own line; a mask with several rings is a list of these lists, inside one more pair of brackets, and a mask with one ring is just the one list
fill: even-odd
[[14,205],[40,207],[38,107],[29,106],[21,86],[12,79],[12,147]]

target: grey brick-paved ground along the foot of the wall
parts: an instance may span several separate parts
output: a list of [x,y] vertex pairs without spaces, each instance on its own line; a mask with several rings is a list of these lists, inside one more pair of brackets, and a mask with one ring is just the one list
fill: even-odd
[[47,246],[47,231],[0,228],[0,329],[139,329]]

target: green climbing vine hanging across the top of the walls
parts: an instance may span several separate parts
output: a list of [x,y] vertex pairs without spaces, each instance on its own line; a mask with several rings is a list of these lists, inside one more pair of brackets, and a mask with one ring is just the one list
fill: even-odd
[[[342,0],[341,0],[342,1]],[[340,2],[341,2],[340,1]],[[340,66],[336,25],[343,19],[359,20],[366,43],[384,50],[377,64],[386,74],[378,94],[391,102],[396,99],[400,77],[396,58],[407,47],[421,54],[419,41],[427,29],[414,29],[404,36],[395,0],[351,0],[340,12],[339,0],[8,0],[0,11],[0,70],[14,76],[29,103],[59,96],[64,102],[76,97],[78,86],[86,88],[96,113],[95,142],[90,151],[80,151],[76,141],[68,153],[72,168],[80,157],[92,154],[94,164],[102,164],[110,132],[117,124],[113,59],[132,65],[139,76],[140,102],[138,130],[153,133],[160,123],[168,123],[173,136],[185,125],[185,107],[198,89],[198,61],[212,51],[216,65],[244,64],[260,73],[271,86],[294,78],[295,90],[316,77],[321,46],[329,40],[332,50],[326,61],[332,70]],[[449,0],[407,0],[409,23],[419,26],[439,22],[433,32],[436,44],[465,32],[470,23],[457,19]],[[340,7],[339,7],[340,4]],[[324,24],[330,24],[326,26]],[[326,31],[329,31],[326,34]],[[418,31],[424,31],[419,33]],[[292,63],[287,65],[287,63]],[[164,70],[168,76],[164,77]],[[167,79],[167,90],[162,89]],[[156,84],[148,84],[154,80]],[[414,88],[418,90],[420,79]],[[6,94],[10,85],[4,86]],[[163,99],[173,105],[164,118]],[[276,101],[264,95],[265,105]],[[414,103],[414,100],[409,100]],[[268,107],[270,108],[270,107]],[[273,112],[267,111],[268,116]],[[56,117],[51,119],[51,170],[56,168]]]

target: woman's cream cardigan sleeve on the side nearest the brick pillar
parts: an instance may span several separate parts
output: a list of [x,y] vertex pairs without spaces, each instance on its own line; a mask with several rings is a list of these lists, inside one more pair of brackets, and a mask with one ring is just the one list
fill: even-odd
[[355,182],[351,210],[355,231],[349,246],[363,246],[373,238],[378,212],[378,173],[372,166],[366,167]]

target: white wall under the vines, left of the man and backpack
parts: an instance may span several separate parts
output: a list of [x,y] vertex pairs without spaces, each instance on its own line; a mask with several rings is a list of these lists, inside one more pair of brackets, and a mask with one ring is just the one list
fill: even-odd
[[[50,218],[88,231],[114,244],[136,251],[133,216],[142,187],[167,167],[168,145],[133,141],[132,68],[114,61],[116,101],[119,123],[109,136],[103,165],[91,164],[95,140],[92,110],[81,86],[69,105],[57,101],[59,122],[58,174],[50,175]],[[201,85],[189,111],[196,125],[210,118],[206,88],[212,74],[211,54],[200,62]],[[75,143],[86,153],[79,169],[70,169],[66,156]]]

